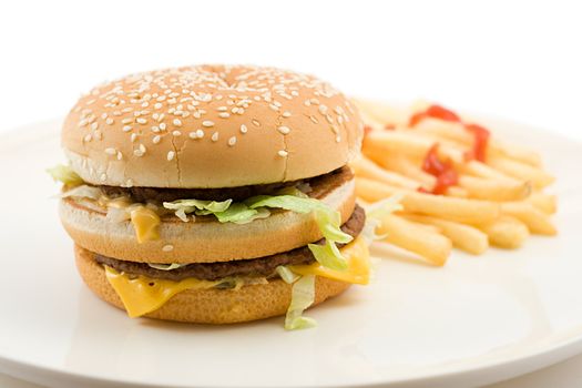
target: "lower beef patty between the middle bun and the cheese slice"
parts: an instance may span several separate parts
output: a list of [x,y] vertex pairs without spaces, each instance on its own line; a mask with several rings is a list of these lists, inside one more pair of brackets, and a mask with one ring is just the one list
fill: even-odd
[[[364,208],[356,205],[351,216],[341,225],[341,231],[353,237],[357,237],[364,228],[365,222],[366,213]],[[324,239],[318,241],[316,244],[324,244]],[[338,244],[338,246],[341,246],[341,244]],[[146,263],[119,261],[99,254],[95,254],[94,258],[100,264],[130,275],[144,275],[151,278],[176,282],[188,277],[203,280],[216,280],[234,276],[270,277],[279,265],[300,265],[315,262],[315,257],[307,246],[258,258],[221,263],[193,263],[172,270],[156,269]]]

